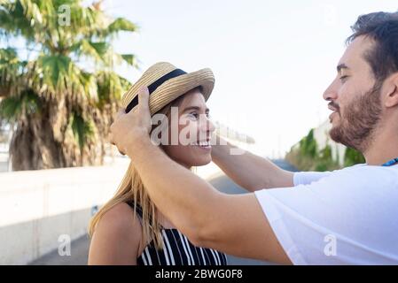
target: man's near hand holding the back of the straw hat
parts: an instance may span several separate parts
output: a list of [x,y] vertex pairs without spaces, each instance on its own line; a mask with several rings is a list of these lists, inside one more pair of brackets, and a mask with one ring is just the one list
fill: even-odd
[[151,131],[149,91],[143,87],[138,91],[138,105],[129,113],[119,111],[110,127],[110,141],[122,155],[132,152],[143,139],[149,139]]

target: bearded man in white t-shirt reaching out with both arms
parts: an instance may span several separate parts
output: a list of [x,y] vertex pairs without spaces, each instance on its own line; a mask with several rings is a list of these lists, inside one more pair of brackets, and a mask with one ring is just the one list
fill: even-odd
[[398,13],[361,16],[353,31],[324,99],[332,139],[366,164],[293,173],[215,145],[215,164],[252,192],[225,195],[152,144],[147,90],[115,119],[113,143],[193,243],[279,264],[398,264]]

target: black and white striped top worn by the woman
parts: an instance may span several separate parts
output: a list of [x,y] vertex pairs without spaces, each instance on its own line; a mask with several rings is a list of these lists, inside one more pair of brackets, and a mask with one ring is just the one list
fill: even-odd
[[[134,203],[128,202],[134,209]],[[142,219],[141,207],[137,204],[137,215]],[[215,249],[194,246],[177,229],[161,228],[163,249],[156,249],[154,241],[147,245],[137,258],[137,265],[226,265],[227,256]]]

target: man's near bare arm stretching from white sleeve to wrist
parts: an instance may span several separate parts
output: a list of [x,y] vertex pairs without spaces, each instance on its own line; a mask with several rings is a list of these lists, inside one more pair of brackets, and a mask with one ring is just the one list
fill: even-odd
[[152,145],[149,137],[143,136],[135,143],[127,154],[146,191],[157,208],[195,245],[234,256],[291,264],[254,193],[222,194]]

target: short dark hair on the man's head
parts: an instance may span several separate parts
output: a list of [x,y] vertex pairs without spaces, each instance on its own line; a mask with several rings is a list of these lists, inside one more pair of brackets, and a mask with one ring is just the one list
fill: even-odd
[[362,15],[351,29],[354,34],[347,38],[347,44],[361,35],[376,42],[375,47],[364,54],[364,58],[371,65],[377,82],[398,72],[398,11]]

